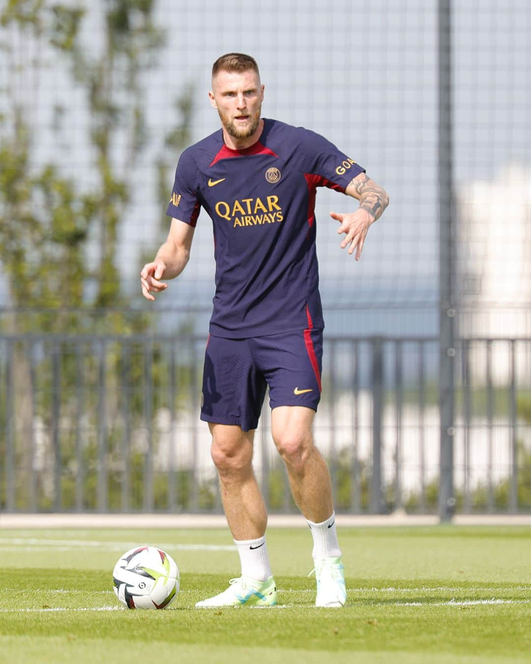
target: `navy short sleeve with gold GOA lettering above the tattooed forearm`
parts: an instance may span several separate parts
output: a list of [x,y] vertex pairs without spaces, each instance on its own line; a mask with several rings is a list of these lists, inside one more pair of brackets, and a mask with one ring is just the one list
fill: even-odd
[[[315,176],[317,186],[344,192],[350,181],[365,169],[315,131],[303,129],[305,175]],[[319,178],[319,181],[317,181]]]

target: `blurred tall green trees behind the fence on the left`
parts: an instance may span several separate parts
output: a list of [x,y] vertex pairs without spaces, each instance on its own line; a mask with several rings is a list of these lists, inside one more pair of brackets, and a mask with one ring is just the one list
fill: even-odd
[[[103,316],[94,315],[94,311],[105,311],[108,307],[127,309],[129,305],[117,265],[117,241],[120,224],[131,205],[135,169],[145,155],[149,139],[145,80],[155,65],[165,34],[154,23],[154,9],[155,0],[105,0],[97,5],[76,6],[44,0],[8,0],[0,7],[0,56],[5,58],[7,72],[6,85],[0,88],[3,111],[0,114],[0,264],[7,276],[11,305],[18,312],[3,318],[0,329],[3,327],[8,333],[127,334],[145,329],[146,320],[141,315]],[[102,30],[98,39],[91,41],[90,50],[82,44],[89,11],[92,19],[94,13],[101,12]],[[13,44],[25,47],[15,48]],[[53,66],[68,76],[76,91],[76,108],[53,109],[56,149],[42,159],[42,155],[38,157],[42,137],[37,109],[46,103],[49,106],[49,102],[40,98],[39,90],[52,57],[50,52]],[[84,100],[82,109],[80,99]],[[177,103],[189,108],[189,92]],[[82,173],[90,173],[90,177],[76,179],[71,175],[68,148],[61,149],[65,129],[72,124],[74,114],[87,119],[87,162],[90,163]],[[179,127],[171,132],[168,150],[178,149],[179,140],[188,141],[189,122],[188,111]],[[157,169],[160,171],[160,163]],[[91,261],[89,248],[93,250]],[[47,345],[46,351],[51,347]],[[52,372],[46,364],[49,356],[44,353],[41,359],[39,355],[37,364],[34,362],[32,366],[30,345],[14,346],[15,465],[23,469],[17,472],[16,479],[19,507],[27,507],[32,479],[29,441],[35,418],[42,418],[51,436],[52,428],[58,427],[50,415],[50,405],[55,399],[60,402],[61,417],[67,418],[72,428],[76,420],[75,386],[79,378],[74,353],[68,352],[66,346],[55,348],[54,353],[61,357],[60,394],[52,390]],[[106,407],[111,422],[119,408],[116,376],[127,362],[119,345],[106,351],[104,380],[108,380],[110,400]],[[164,362],[164,357],[153,355],[152,375],[148,379],[167,380]],[[82,363],[85,382],[96,376],[92,381],[94,390],[88,392],[96,394],[101,378],[98,359],[88,353]],[[134,382],[135,365],[127,371]],[[187,374],[179,375],[185,379]],[[28,388],[32,384],[33,398]],[[141,418],[142,406],[137,401],[133,399],[130,404],[132,428]],[[2,430],[6,416],[2,403]],[[92,422],[92,426],[96,423]],[[59,436],[66,500],[63,506],[72,507],[72,491],[79,477],[73,462],[74,436],[64,430]],[[106,445],[110,450],[107,460],[112,461],[115,448],[112,434],[108,434]],[[94,442],[84,440],[83,454],[87,471],[85,493],[92,496],[86,507],[94,507],[94,491],[90,489],[96,477],[92,469],[98,454]],[[0,455],[5,457],[4,440],[0,440]],[[112,473],[118,477],[116,485],[119,485],[123,473],[111,470]],[[0,496],[0,503],[5,503],[5,495]],[[47,509],[50,505],[53,506],[45,499],[38,501],[38,507]]]

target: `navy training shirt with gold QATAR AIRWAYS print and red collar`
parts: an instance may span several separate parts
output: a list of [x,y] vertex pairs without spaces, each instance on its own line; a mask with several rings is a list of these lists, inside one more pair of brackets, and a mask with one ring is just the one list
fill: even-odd
[[315,193],[344,193],[359,173],[318,133],[266,118],[251,147],[227,147],[219,129],[183,152],[167,214],[195,226],[203,207],[212,218],[212,335],[244,339],[325,326]]

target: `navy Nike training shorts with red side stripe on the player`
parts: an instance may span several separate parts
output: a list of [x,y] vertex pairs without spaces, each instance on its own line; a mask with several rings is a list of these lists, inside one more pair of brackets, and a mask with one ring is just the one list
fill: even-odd
[[201,419],[256,429],[269,386],[269,406],[307,406],[321,398],[323,330],[251,339],[210,335],[204,354]]

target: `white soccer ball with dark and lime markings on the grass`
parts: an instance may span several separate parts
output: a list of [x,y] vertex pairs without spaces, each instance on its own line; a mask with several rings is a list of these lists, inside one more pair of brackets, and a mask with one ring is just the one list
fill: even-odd
[[165,609],[179,592],[175,560],[155,546],[131,548],[112,573],[114,593],[129,609]]

